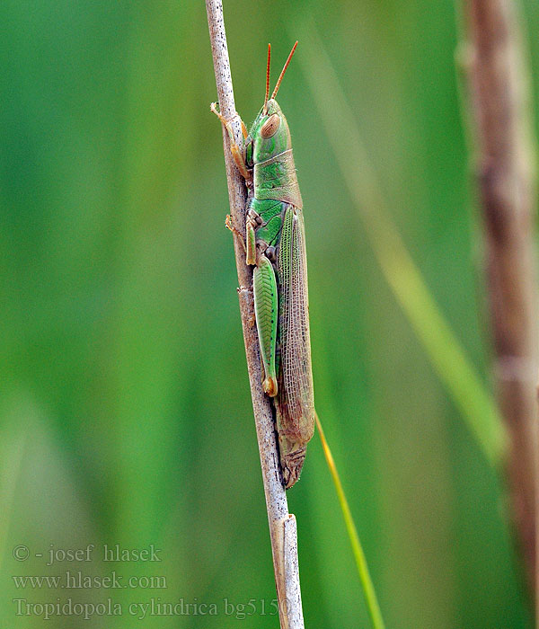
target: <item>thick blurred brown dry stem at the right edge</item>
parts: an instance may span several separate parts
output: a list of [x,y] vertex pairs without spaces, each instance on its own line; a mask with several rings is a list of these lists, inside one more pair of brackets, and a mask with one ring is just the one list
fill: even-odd
[[464,7],[497,394],[510,436],[511,510],[536,591],[538,312],[526,58],[511,0],[469,0]]

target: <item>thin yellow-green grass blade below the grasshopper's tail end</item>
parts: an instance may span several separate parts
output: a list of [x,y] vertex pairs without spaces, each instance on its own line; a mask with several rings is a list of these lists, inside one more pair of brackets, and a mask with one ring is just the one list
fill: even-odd
[[358,566],[359,580],[361,580],[361,586],[363,588],[363,596],[365,597],[365,602],[367,604],[367,609],[369,616],[373,622],[373,626],[375,629],[384,629],[384,619],[382,618],[382,612],[380,611],[380,606],[378,605],[378,599],[376,598],[375,586],[373,585],[373,581],[371,580],[370,573],[368,571],[367,559],[365,557],[365,553],[363,551],[363,547],[361,542],[359,541],[358,529],[354,523],[354,518],[352,518],[352,514],[349,508],[349,503],[346,499],[346,495],[344,490],[342,489],[342,484],[340,483],[339,473],[337,472],[337,467],[335,466],[335,462],[333,461],[333,456],[331,455],[330,447],[328,446],[328,442],[325,439],[325,435],[323,433],[322,424],[318,419],[318,413],[314,412],[314,419],[316,420],[316,426],[318,427],[318,434],[320,435],[320,440],[322,441],[323,454],[326,457],[326,461],[328,463],[328,467],[330,468],[331,477],[333,479],[333,483],[335,485],[335,490],[337,491],[337,496],[339,498],[340,509],[342,510],[342,517],[344,518],[344,524],[346,526],[346,530],[349,534],[350,545],[352,546],[352,552],[354,553],[354,559],[356,560],[356,565]]

